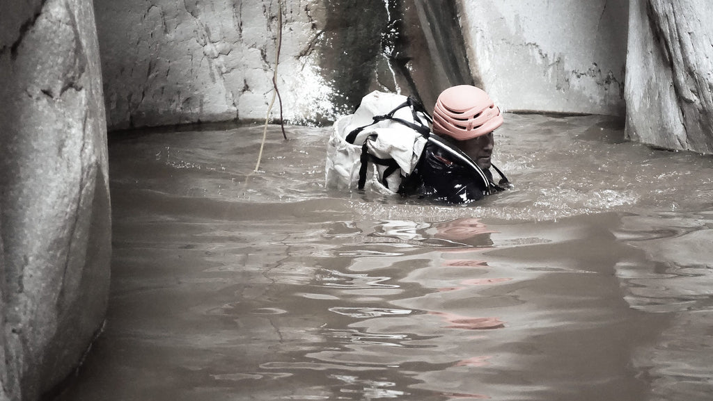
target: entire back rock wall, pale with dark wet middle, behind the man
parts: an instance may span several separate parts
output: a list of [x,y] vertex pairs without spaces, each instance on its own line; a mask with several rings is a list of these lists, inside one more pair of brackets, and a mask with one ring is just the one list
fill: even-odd
[[[265,118],[278,1],[95,6],[110,129]],[[624,113],[625,2],[285,0],[282,35],[289,123],[329,123],[374,89],[428,106],[459,83],[506,110]]]

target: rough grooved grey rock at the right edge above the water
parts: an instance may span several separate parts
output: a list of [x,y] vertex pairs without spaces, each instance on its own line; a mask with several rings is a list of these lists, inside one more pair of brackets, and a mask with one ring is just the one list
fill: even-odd
[[626,133],[632,140],[713,153],[709,6],[631,0]]

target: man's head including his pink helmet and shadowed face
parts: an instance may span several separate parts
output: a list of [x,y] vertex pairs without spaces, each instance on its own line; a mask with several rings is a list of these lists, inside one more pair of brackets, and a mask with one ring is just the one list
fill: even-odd
[[491,167],[493,130],[502,124],[500,109],[480,88],[457,85],[438,95],[434,132],[450,137],[482,169]]

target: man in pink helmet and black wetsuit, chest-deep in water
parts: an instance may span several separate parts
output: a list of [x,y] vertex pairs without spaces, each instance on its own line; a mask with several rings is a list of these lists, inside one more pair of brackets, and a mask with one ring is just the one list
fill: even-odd
[[[448,203],[469,203],[509,186],[491,163],[493,131],[503,114],[488,94],[473,85],[457,85],[438,95],[424,157],[401,187],[401,194]],[[493,181],[493,167],[501,176]]]

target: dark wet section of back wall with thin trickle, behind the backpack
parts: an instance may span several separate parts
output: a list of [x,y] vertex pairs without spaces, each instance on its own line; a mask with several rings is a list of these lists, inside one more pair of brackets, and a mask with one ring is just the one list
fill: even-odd
[[[320,60],[345,113],[372,90],[414,95],[430,109],[443,89],[476,83],[455,1],[327,3]],[[324,117],[321,123],[332,123],[334,115]]]

